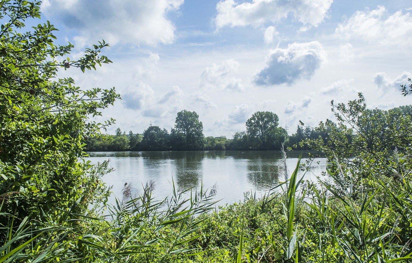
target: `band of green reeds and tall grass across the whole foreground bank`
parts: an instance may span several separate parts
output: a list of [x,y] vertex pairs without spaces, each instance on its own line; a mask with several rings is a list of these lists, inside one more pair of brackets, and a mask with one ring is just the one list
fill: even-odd
[[356,181],[339,169],[330,172],[333,183],[307,182],[302,189],[300,161],[289,173],[284,153],[286,177],[278,175],[282,181],[268,194],[216,211],[214,188],[180,191],[172,183],[171,196],[157,201],[152,182],[137,195],[126,185],[105,217],[69,209],[66,222],[40,224],[0,210],[0,263],[412,260],[411,171]]

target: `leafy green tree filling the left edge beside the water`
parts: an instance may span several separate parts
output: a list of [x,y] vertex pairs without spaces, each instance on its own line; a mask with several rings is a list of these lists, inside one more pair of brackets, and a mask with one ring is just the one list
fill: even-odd
[[[81,213],[103,189],[83,160],[84,139],[113,121],[101,124],[89,117],[101,115],[99,110],[119,96],[114,88],[80,89],[72,78],[58,78],[57,72],[110,63],[100,55],[108,44],[87,48],[79,59],[64,59],[73,45],[55,45],[56,29],[49,22],[25,32],[26,19],[40,18],[40,1],[6,0],[0,7],[2,212],[41,222],[45,215],[65,216],[58,208],[79,200],[71,211]],[[94,193],[87,191],[91,188]]]

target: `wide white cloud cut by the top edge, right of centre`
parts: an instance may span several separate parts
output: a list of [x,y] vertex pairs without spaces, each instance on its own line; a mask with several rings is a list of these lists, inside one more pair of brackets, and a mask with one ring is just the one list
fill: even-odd
[[253,0],[238,3],[223,0],[216,5],[217,28],[229,26],[258,26],[269,21],[279,22],[291,14],[304,25],[316,26],[323,22],[333,0]]

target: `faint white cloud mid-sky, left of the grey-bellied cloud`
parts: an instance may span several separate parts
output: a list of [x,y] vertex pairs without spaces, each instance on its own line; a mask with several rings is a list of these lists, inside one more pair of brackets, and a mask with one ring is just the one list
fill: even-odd
[[199,87],[203,89],[231,89],[241,91],[244,89],[242,80],[235,78],[233,73],[239,68],[239,62],[228,59],[222,64],[212,64],[200,75]]

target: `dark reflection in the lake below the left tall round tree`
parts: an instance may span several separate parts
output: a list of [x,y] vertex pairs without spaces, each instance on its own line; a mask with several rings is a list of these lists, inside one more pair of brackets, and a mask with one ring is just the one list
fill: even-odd
[[179,190],[196,187],[202,175],[202,159],[204,152],[180,152],[180,158],[175,159],[176,185]]

